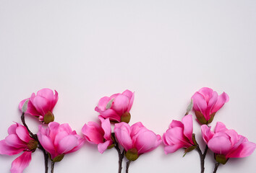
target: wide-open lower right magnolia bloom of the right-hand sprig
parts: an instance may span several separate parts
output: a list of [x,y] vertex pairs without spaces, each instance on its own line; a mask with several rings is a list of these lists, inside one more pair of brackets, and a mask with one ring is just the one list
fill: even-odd
[[218,122],[214,133],[207,125],[201,126],[202,138],[211,151],[215,154],[229,158],[241,158],[252,154],[256,144],[249,142],[247,138],[229,130],[226,126]]

